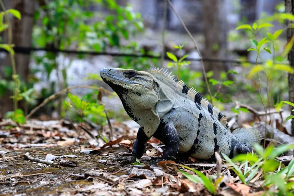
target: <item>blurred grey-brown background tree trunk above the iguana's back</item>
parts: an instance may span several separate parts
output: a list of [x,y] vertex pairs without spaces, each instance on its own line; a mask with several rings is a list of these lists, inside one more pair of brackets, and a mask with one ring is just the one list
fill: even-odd
[[[224,0],[203,0],[203,24],[205,36],[204,58],[224,59],[227,47],[227,22]],[[205,62],[205,70],[213,71],[219,80],[221,71],[227,71],[226,64]]]

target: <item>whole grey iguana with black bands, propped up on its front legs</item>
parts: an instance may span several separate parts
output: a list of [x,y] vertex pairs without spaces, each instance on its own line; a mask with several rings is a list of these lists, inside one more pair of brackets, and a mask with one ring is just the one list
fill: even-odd
[[231,133],[220,111],[167,69],[103,68],[100,76],[140,125],[130,162],[143,156],[152,136],[166,146],[162,155],[166,160],[174,160],[178,153],[208,160],[214,158],[215,151],[232,157],[251,152],[252,144],[261,140],[256,129]]

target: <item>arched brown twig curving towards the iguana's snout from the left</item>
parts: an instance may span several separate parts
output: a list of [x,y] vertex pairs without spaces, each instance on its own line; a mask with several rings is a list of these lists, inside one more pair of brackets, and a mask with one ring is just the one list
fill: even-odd
[[76,89],[76,88],[95,89],[95,90],[98,90],[98,91],[104,91],[105,93],[108,93],[108,94],[112,94],[112,92],[104,89],[103,87],[84,86],[84,85],[77,85],[77,86],[67,87],[67,88],[59,91],[58,93],[56,93],[54,95],[51,95],[49,98],[46,98],[40,105],[38,105],[37,107],[35,107],[34,109],[32,109],[32,111],[25,117],[25,120],[29,119],[38,109],[40,109],[41,107],[43,107],[50,100],[56,98],[57,96],[62,95],[65,92],[68,92],[68,91],[70,91],[72,89]]

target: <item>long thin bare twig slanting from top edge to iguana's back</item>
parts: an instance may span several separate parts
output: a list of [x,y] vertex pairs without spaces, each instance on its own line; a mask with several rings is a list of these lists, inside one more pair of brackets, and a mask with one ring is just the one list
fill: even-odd
[[182,26],[184,27],[184,29],[186,30],[186,32],[188,33],[188,35],[190,36],[191,40],[193,41],[194,43],[194,47],[195,49],[197,50],[198,52],[198,55],[199,55],[199,58],[200,58],[200,62],[201,62],[201,68],[202,68],[202,73],[203,73],[203,76],[204,76],[204,80],[205,80],[205,84],[206,84],[206,87],[207,87],[207,91],[208,91],[208,94],[210,96],[210,102],[211,104],[213,104],[213,100],[212,100],[212,95],[211,95],[211,91],[210,91],[210,88],[209,88],[209,85],[208,85],[208,80],[207,80],[207,76],[206,76],[206,72],[205,72],[205,68],[204,68],[204,63],[203,63],[203,59],[202,59],[202,56],[201,56],[201,53],[200,53],[200,50],[197,46],[197,43],[196,41],[194,40],[192,34],[190,33],[190,31],[188,30],[188,28],[186,27],[185,23],[183,22],[183,20],[181,19],[181,17],[178,15],[178,13],[175,11],[173,5],[172,5],[172,2],[171,0],[167,0],[172,8],[172,11],[174,12],[174,14],[177,16],[177,18],[179,19],[179,21],[181,22]]

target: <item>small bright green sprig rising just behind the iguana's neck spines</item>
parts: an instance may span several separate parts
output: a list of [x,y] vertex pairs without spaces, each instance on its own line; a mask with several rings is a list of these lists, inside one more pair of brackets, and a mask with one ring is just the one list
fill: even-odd
[[172,54],[171,52],[167,52],[168,57],[173,61],[173,62],[168,63],[168,68],[171,68],[171,67],[176,67],[177,68],[177,77],[178,77],[178,79],[180,79],[180,68],[182,66],[191,64],[190,61],[184,61],[185,58],[187,58],[189,56],[188,54],[185,54],[182,57],[182,49],[186,45],[186,43],[187,42],[185,42],[183,45],[178,45],[178,46],[174,45],[173,46],[175,49],[178,49],[179,52],[180,52],[180,58],[179,59],[177,59],[177,57],[174,54]]

